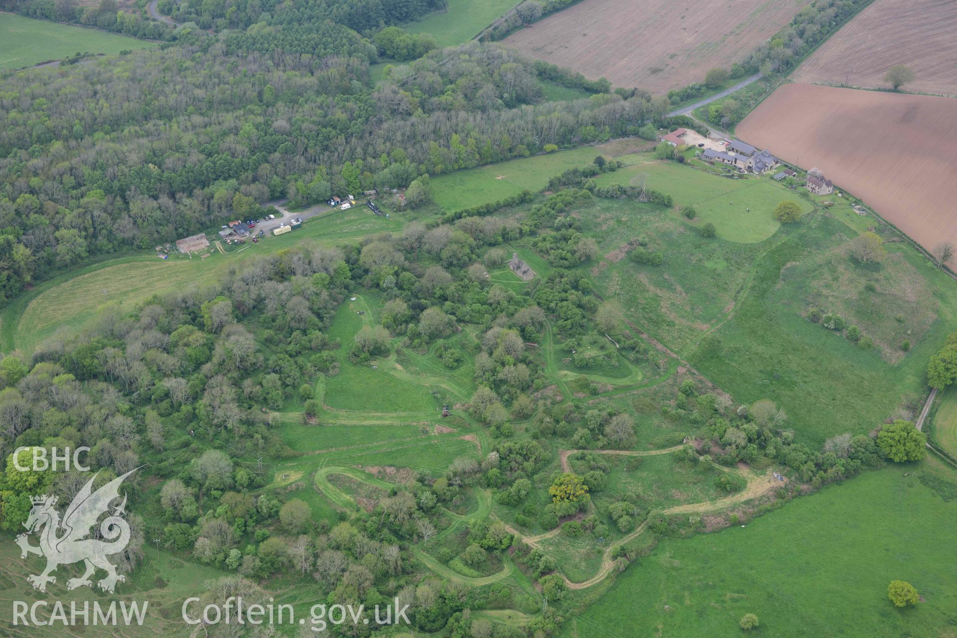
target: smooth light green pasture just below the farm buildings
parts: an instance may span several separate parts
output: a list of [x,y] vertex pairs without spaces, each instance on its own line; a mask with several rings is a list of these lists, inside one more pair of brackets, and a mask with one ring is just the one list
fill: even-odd
[[677,206],[695,207],[695,225],[713,223],[719,237],[745,244],[762,242],[778,229],[781,224],[772,212],[778,202],[790,200],[805,212],[812,209],[790,189],[768,179],[731,180],[652,156],[595,181],[599,185],[645,185],[669,193]]

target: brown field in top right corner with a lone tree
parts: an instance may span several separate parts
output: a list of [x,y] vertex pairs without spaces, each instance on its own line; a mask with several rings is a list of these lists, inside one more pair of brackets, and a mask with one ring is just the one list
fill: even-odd
[[905,91],[957,95],[957,0],[878,0],[820,46],[797,82],[885,88],[895,64],[914,72]]

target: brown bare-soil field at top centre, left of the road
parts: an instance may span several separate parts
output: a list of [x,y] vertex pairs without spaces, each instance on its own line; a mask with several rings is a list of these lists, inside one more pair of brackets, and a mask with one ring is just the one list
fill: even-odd
[[583,0],[505,38],[530,57],[653,94],[700,82],[786,25],[808,0]]

